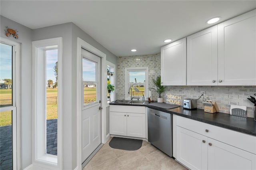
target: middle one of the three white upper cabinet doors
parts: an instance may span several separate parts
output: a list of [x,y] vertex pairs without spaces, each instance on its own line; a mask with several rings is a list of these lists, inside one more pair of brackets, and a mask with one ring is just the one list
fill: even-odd
[[217,85],[217,26],[187,37],[187,85]]

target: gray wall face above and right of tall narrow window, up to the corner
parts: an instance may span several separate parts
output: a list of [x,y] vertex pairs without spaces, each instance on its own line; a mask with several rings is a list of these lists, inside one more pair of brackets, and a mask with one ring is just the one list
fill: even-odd
[[[49,38],[62,37],[62,81],[63,83],[63,106],[62,113],[62,156],[63,169],[74,169],[76,167],[76,113],[72,112],[72,23],[60,24],[45,28],[39,28],[32,31],[32,41],[44,40]],[[71,87],[71,88],[70,88]]]

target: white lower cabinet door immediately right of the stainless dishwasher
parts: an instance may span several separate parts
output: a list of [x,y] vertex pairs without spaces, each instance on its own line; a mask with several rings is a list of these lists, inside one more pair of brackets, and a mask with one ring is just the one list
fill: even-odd
[[193,170],[207,169],[207,137],[177,126],[176,159]]

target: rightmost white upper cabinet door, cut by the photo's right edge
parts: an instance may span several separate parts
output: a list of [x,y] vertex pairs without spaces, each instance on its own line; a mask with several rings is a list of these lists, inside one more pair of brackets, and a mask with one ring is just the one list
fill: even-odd
[[218,85],[256,85],[256,10],[218,24]]

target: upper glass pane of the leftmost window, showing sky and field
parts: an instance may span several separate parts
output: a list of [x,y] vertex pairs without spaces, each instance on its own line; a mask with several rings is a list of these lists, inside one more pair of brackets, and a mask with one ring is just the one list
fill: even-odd
[[0,43],[0,107],[12,106],[12,45]]

